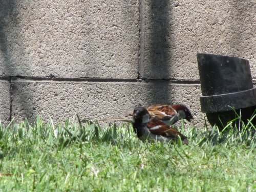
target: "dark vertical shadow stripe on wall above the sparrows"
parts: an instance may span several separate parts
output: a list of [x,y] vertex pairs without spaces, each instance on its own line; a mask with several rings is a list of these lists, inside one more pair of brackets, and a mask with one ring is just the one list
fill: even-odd
[[[169,78],[169,71],[172,68],[169,63],[169,55],[172,54],[170,50],[168,39],[169,26],[169,10],[168,0],[150,1],[150,11],[148,14],[148,22],[145,33],[149,34],[149,59],[145,63],[148,70],[149,78],[152,79],[167,79]],[[170,92],[168,82],[151,81],[150,96],[148,102],[153,103],[167,103],[170,102]]]

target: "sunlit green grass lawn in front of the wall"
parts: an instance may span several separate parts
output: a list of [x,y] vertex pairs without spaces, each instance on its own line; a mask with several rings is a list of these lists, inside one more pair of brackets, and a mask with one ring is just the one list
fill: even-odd
[[188,146],[142,143],[129,124],[1,125],[0,191],[256,191],[255,127],[242,125],[183,121]]

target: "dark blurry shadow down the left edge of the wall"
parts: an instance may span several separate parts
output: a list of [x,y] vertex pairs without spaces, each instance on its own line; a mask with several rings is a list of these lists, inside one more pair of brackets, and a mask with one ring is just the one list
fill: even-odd
[[[15,71],[15,62],[13,63],[13,53],[19,52],[22,46],[19,46],[17,42],[22,42],[20,34],[18,33],[18,21],[17,10],[15,0],[0,0],[0,68],[2,70],[0,76],[16,76],[19,75]],[[15,31],[13,28],[16,28]],[[12,44],[17,44],[14,46]],[[17,55],[18,56],[18,55]],[[12,86],[13,85],[13,86]],[[31,94],[32,92],[24,92],[26,89],[25,84],[22,85],[22,89],[16,93],[17,87],[11,78],[11,103],[10,109],[12,110],[9,120],[16,115],[30,119],[33,116],[33,106],[31,106]],[[16,111],[19,114],[13,114]]]

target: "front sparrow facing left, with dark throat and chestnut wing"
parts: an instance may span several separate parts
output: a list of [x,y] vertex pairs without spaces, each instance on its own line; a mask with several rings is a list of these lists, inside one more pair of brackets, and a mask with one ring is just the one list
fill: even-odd
[[142,141],[154,139],[160,142],[177,141],[180,137],[183,144],[188,144],[187,137],[176,129],[164,124],[159,119],[151,116],[146,108],[141,106],[134,109],[133,129]]

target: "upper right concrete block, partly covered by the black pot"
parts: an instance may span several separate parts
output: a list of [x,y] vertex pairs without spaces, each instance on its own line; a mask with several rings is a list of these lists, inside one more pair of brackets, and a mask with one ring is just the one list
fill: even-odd
[[199,79],[199,52],[248,59],[256,78],[255,1],[150,0],[144,9],[142,77]]

